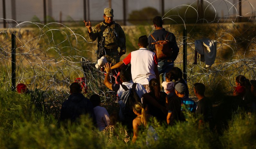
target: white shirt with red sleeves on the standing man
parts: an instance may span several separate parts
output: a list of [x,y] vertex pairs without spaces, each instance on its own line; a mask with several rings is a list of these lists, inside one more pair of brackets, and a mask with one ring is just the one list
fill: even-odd
[[125,65],[131,63],[133,82],[142,85],[149,84],[151,79],[156,78],[154,67],[157,66],[157,61],[156,53],[147,48],[133,51],[123,59]]

